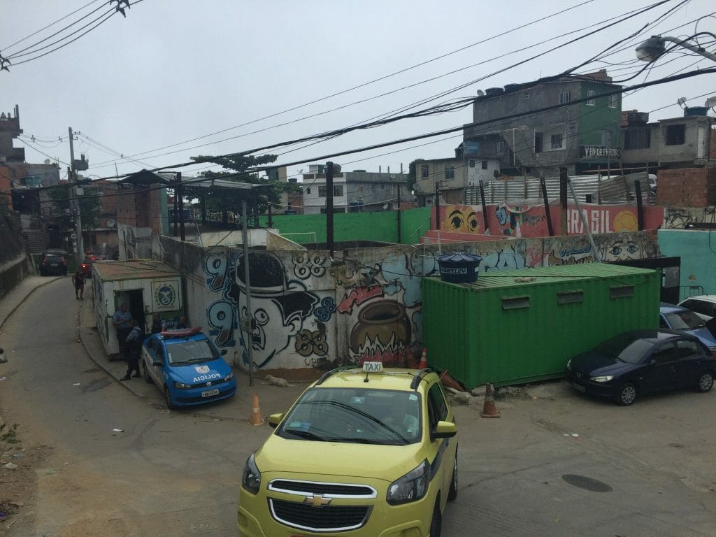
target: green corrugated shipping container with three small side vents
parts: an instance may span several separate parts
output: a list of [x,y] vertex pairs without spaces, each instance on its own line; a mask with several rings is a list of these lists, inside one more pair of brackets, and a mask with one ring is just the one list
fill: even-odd
[[658,328],[661,276],[608,263],[422,281],[427,363],[469,388],[563,377],[567,360],[615,334]]

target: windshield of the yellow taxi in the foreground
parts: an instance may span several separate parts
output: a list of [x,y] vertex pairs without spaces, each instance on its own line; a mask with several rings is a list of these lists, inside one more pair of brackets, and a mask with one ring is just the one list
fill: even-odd
[[292,440],[407,445],[420,440],[420,394],[399,390],[313,388],[276,434]]

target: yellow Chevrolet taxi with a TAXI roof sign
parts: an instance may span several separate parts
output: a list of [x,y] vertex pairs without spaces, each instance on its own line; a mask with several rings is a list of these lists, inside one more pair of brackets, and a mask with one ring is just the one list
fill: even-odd
[[326,372],[243,470],[243,537],[439,537],[458,495],[458,427],[432,369]]

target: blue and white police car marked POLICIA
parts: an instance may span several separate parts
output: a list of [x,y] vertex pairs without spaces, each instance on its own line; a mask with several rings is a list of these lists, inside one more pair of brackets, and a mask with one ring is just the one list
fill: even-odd
[[226,399],[236,394],[236,379],[222,354],[200,326],[152,334],[142,343],[144,378],[170,410]]

